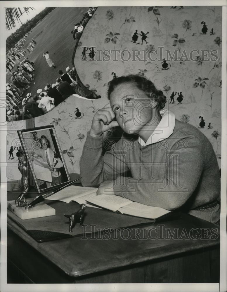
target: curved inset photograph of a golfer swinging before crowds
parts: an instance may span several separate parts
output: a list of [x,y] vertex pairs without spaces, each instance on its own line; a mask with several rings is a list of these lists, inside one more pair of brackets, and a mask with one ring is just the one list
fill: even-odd
[[[100,98],[79,79],[74,57],[97,7],[43,7],[6,39],[6,121],[39,117],[69,96]],[[6,29],[35,8],[6,8]]]

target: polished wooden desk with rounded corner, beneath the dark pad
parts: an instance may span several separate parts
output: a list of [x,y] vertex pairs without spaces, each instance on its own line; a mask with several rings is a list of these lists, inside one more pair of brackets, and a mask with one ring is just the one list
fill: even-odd
[[[18,194],[9,195],[9,199]],[[48,202],[48,201],[47,201]],[[63,203],[64,204],[64,203]],[[75,208],[77,208],[77,203]],[[97,210],[98,212],[98,210]],[[137,228],[156,228],[163,239],[74,237],[38,243],[8,218],[8,283],[218,283],[218,239],[165,239],[167,228],[219,227],[183,214],[181,219]],[[67,227],[66,227],[67,228]],[[203,230],[203,231],[202,231]],[[154,231],[154,230],[153,230]],[[117,234],[117,235],[116,235]],[[146,233],[147,234],[147,233]],[[206,234],[206,232],[204,233]],[[114,239],[118,237],[118,239]],[[124,234],[127,237],[127,232]],[[195,234],[194,234],[195,236]]]

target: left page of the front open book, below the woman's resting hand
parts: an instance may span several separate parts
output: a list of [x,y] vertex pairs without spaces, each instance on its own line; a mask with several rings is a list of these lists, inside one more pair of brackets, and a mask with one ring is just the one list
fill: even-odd
[[90,198],[87,200],[93,204],[107,208],[116,212],[119,208],[130,204],[132,201],[125,199],[116,195],[98,195],[96,197]]

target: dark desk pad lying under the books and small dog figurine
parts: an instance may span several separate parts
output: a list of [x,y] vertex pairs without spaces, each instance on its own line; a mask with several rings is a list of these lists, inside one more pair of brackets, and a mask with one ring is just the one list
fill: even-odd
[[[51,200],[45,200],[45,202],[49,206],[55,208],[55,216],[22,220],[13,212],[8,210],[8,216],[38,242],[82,236],[85,232],[85,228],[87,234],[87,232],[98,232],[98,228],[99,230],[103,230],[104,228],[115,229],[135,227],[150,225],[155,222],[152,219],[122,215],[105,209],[87,207],[85,209],[83,221],[84,227],[80,226],[78,222],[73,227],[72,232],[69,232],[69,219],[64,217],[64,214],[74,213],[79,209],[79,204],[76,202],[70,202],[67,204],[61,201]],[[167,215],[168,216],[164,215],[160,217],[159,221],[173,220],[179,218],[180,216],[178,213],[174,212],[168,213]]]

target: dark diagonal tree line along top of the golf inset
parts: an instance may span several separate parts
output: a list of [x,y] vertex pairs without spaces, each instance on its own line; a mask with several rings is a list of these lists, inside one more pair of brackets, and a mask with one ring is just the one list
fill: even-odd
[[56,7],[46,7],[40,13],[35,15],[31,20],[23,23],[13,34],[6,39],[6,52],[8,52],[15,44],[30,30],[37,25],[48,13],[53,11]]

